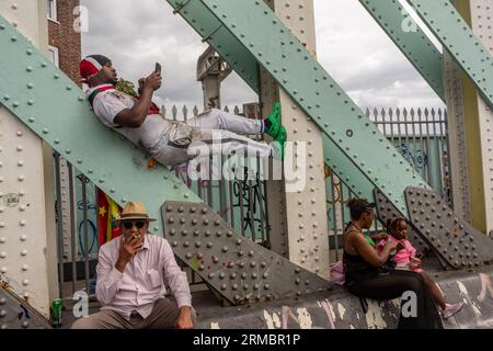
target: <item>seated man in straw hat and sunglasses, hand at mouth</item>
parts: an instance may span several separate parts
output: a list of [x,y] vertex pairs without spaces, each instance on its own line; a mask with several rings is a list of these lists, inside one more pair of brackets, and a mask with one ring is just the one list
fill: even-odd
[[[191,329],[192,309],[186,273],[176,264],[168,240],[148,234],[149,218],[139,202],[125,205],[123,235],[99,252],[96,297],[99,313],[78,319],[72,329]],[[164,298],[167,280],[176,302]]]

